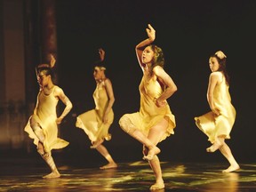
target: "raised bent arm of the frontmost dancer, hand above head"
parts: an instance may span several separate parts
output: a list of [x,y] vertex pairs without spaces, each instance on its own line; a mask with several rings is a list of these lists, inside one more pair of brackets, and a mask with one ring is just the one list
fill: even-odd
[[142,68],[142,70],[144,70],[142,67],[143,63],[141,60],[142,52],[148,44],[152,44],[156,39],[156,30],[154,28],[152,28],[152,26],[150,24],[148,24],[148,28],[146,28],[146,32],[148,34],[148,38],[143,40],[142,42],[140,42],[140,44],[137,44],[135,47],[137,59],[139,61],[140,68]]

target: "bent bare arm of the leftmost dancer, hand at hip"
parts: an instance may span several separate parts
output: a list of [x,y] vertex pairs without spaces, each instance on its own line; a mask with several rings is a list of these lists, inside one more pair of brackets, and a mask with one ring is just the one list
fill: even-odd
[[62,114],[56,120],[56,123],[60,124],[63,118],[68,115],[71,108],[73,108],[73,105],[60,87],[55,89],[54,95],[55,97],[58,97],[66,105]]

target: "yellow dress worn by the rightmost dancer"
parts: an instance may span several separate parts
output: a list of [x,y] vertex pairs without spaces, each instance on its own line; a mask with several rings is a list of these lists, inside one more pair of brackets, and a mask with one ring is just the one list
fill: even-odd
[[215,116],[212,111],[203,116],[196,116],[196,126],[208,136],[210,142],[214,142],[220,135],[225,139],[230,139],[230,132],[235,123],[236,109],[231,104],[229,86],[226,84],[225,77],[217,84],[213,92],[213,102],[220,111],[220,116]]

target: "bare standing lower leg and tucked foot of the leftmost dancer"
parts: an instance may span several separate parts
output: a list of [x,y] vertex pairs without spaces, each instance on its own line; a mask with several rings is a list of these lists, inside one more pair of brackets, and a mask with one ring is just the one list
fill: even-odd
[[37,152],[43,157],[46,164],[49,165],[52,172],[48,175],[45,175],[43,178],[52,179],[52,178],[60,178],[60,172],[57,170],[57,167],[53,161],[51,152],[45,153],[44,146],[41,142],[38,143]]

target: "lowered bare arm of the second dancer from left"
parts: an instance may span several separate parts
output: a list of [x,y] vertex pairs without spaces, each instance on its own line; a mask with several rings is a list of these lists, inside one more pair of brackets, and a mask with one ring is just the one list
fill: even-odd
[[114,97],[114,92],[113,92],[113,87],[112,87],[111,81],[109,79],[106,79],[105,85],[106,85],[106,91],[108,94],[108,106],[107,106],[104,116],[103,116],[104,124],[108,123],[108,113],[110,112],[110,110],[113,107],[113,104],[115,102],[115,97]]

